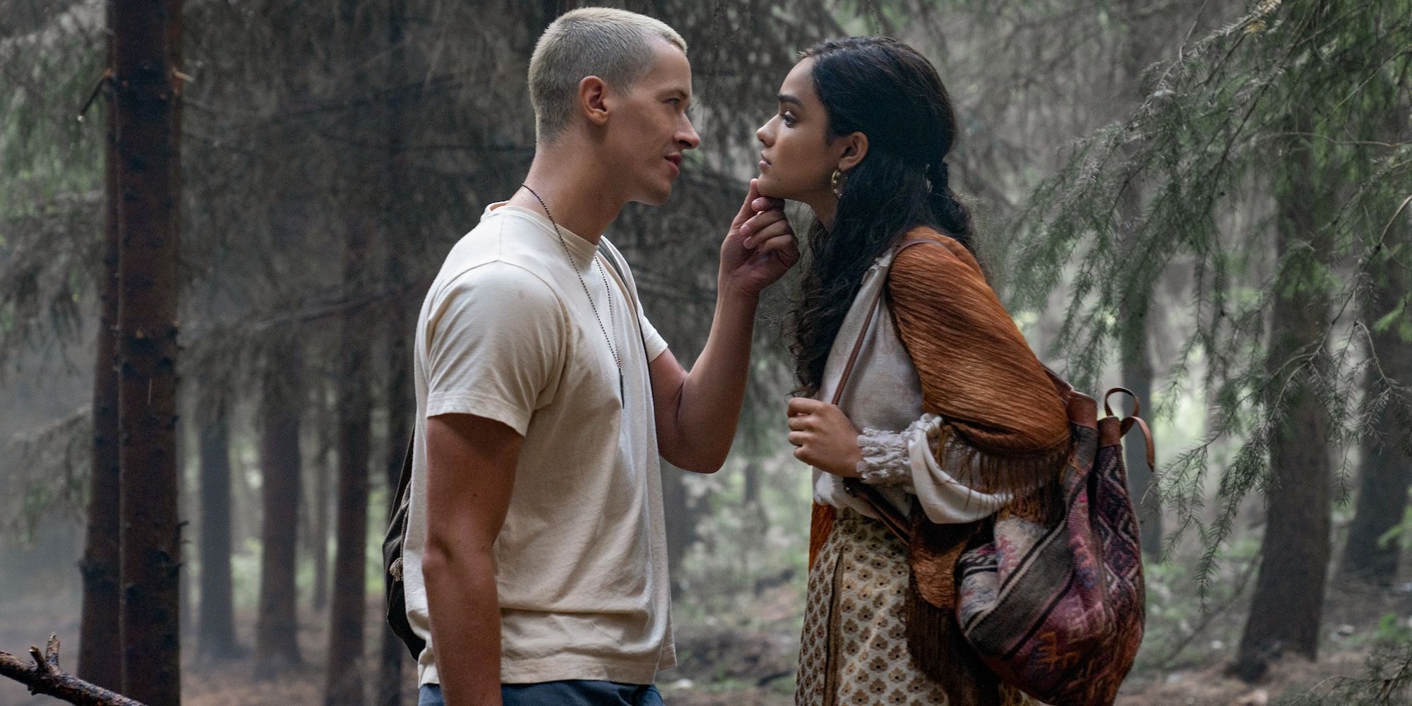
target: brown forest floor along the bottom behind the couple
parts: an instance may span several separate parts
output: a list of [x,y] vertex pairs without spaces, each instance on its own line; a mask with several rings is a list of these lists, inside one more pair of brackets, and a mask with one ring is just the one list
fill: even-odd
[[[676,628],[681,666],[664,672],[658,681],[671,706],[785,706],[794,703],[795,654],[798,651],[798,614],[789,606],[794,590],[788,586],[765,592],[750,606],[740,606],[751,621],[730,624],[724,616],[712,620],[683,620]],[[369,669],[376,674],[376,652],[381,630],[381,606],[369,603]],[[1248,685],[1224,675],[1233,650],[1221,641],[1199,640],[1204,647],[1183,652],[1186,657],[1165,669],[1135,671],[1118,698],[1121,706],[1262,706],[1281,698],[1327,686],[1339,676],[1363,674],[1364,661],[1375,637],[1412,640],[1408,616],[1412,614],[1412,586],[1401,590],[1332,592],[1326,606],[1327,638],[1317,662],[1286,658],[1276,662],[1264,681]],[[1395,620],[1388,616],[1398,616]],[[683,616],[685,617],[685,616]],[[306,671],[265,682],[251,678],[249,657],[222,662],[195,658],[184,661],[182,700],[188,706],[274,706],[321,703],[325,652],[325,614],[305,610],[299,620],[301,648]],[[1217,616],[1238,634],[1243,616]],[[713,624],[712,624],[713,623]],[[753,623],[753,624],[746,624]],[[237,633],[250,645],[254,617],[241,614]],[[75,666],[78,610],[42,599],[0,603],[0,650],[23,654],[30,644],[42,642],[58,631],[66,645],[61,652],[65,669]],[[1156,637],[1149,631],[1149,637]],[[195,635],[184,635],[185,645],[195,645]],[[371,682],[371,678],[369,679]],[[404,659],[404,703],[415,703],[414,669]],[[0,679],[0,706],[40,706],[52,699],[27,696],[16,682]],[[369,702],[371,703],[371,700]]]

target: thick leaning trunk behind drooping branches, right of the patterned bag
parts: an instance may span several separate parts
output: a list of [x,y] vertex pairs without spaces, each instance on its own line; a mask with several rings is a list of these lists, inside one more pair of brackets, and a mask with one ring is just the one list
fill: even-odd
[[[1289,133],[1313,134],[1312,123],[1310,116],[1296,114]],[[1281,264],[1265,414],[1278,424],[1269,433],[1271,484],[1260,575],[1237,658],[1237,674],[1247,679],[1258,678],[1265,662],[1285,650],[1317,657],[1329,566],[1329,417],[1310,378],[1329,374],[1324,273],[1333,243],[1322,227],[1327,196],[1316,184],[1319,165],[1306,138],[1293,140],[1286,145],[1285,174],[1276,189]]]

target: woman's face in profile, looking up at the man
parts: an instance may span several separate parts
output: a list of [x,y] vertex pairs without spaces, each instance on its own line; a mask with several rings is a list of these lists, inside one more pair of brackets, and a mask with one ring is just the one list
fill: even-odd
[[[806,58],[779,86],[779,110],[755,130],[760,151],[760,193],[802,201],[810,206],[833,199],[829,178],[839,167],[842,140],[830,145],[829,116],[813,88],[813,58]],[[840,152],[840,154],[834,154]]]

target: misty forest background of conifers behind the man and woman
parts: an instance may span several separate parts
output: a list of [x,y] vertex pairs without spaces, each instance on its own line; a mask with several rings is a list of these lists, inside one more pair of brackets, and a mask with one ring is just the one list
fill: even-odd
[[[141,176],[109,151],[130,86],[104,78],[133,25],[102,0],[0,0],[0,650],[55,631],[79,676],[188,703],[414,703],[378,554],[414,312],[525,172],[530,51],[579,3],[150,4],[179,137]],[[665,206],[607,233],[679,359],[798,51],[898,37],[957,104],[953,182],[1031,345],[1152,422],[1156,472],[1128,449],[1148,633],[1120,703],[1408,702],[1412,0],[610,4],[690,45],[702,148]],[[114,354],[137,339],[114,195],[148,188],[172,195],[151,282],[176,325],[171,442],[137,463],[117,443]],[[791,702],[794,288],[764,302],[726,467],[664,470],[671,703]],[[158,579],[136,583],[152,597],[130,602],[152,610],[123,618],[155,631],[126,641],[121,463],[124,497],[171,510]],[[0,703],[42,702],[0,682]]]

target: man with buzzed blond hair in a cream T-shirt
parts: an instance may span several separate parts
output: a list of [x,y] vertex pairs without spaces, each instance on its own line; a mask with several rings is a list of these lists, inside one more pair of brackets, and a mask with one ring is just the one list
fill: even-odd
[[685,41],[575,10],[539,38],[530,90],[525,184],[452,249],[417,328],[404,562],[421,703],[661,703],[675,654],[658,455],[720,467],[760,291],[798,250],[751,184],[686,373],[602,240],[627,202],[665,202],[699,143]]

